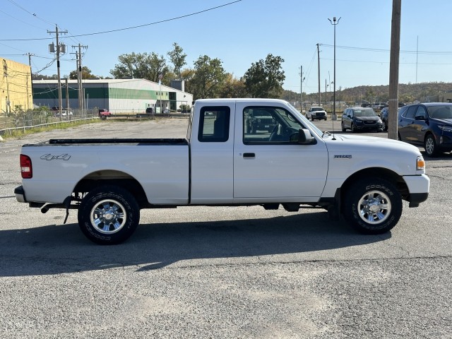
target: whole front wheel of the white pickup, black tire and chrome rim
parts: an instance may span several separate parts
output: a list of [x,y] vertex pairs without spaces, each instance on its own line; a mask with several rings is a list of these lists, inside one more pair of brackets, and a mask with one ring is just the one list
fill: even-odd
[[402,197],[391,182],[360,179],[347,189],[343,215],[360,233],[382,234],[396,226],[402,208]]

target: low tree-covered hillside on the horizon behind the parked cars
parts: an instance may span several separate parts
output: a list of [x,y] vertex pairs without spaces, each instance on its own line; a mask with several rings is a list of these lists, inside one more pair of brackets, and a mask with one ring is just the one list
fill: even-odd
[[[400,83],[398,87],[399,101],[413,102],[419,100],[421,102],[438,101],[441,93],[451,92],[452,83]],[[336,100],[345,102],[360,102],[367,100],[369,102],[387,102],[389,94],[389,85],[379,86],[357,86],[341,90],[336,88]],[[303,101],[316,102],[319,97],[318,93],[303,93]],[[291,90],[285,90],[283,99],[290,102],[299,102],[300,95]],[[321,92],[322,102],[325,100],[325,92]],[[333,100],[333,92],[328,92],[326,101]]]

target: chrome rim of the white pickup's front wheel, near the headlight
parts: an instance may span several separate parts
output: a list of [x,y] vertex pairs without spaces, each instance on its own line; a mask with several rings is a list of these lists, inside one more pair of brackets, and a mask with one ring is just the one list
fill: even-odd
[[381,191],[369,191],[358,203],[359,216],[367,224],[378,225],[391,215],[391,201]]

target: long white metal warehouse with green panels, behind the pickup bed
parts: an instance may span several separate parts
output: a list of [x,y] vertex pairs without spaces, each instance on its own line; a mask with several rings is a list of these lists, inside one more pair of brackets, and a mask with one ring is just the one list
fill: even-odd
[[[62,106],[78,109],[77,80],[61,81]],[[100,79],[83,80],[83,108],[108,109],[114,113],[145,112],[153,107],[153,112],[163,109],[175,112],[182,105],[191,105],[193,95],[184,92],[183,81],[172,81],[175,88],[159,85],[144,79]],[[58,81],[33,81],[33,103],[38,106],[58,107]],[[160,108],[161,107],[161,108]]]

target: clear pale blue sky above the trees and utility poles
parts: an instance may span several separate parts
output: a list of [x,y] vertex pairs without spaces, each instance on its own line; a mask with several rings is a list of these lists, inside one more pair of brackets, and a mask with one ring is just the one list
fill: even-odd
[[[57,74],[48,45],[66,44],[61,77],[82,64],[96,76],[112,76],[121,54],[155,52],[167,57],[177,42],[186,67],[202,55],[218,58],[228,73],[244,75],[268,54],[282,57],[283,88],[299,93],[388,85],[392,0],[165,0],[32,1],[0,0],[0,57],[33,73]],[[450,0],[403,0],[400,22],[399,83],[452,82]],[[304,81],[300,76],[300,69]]]

